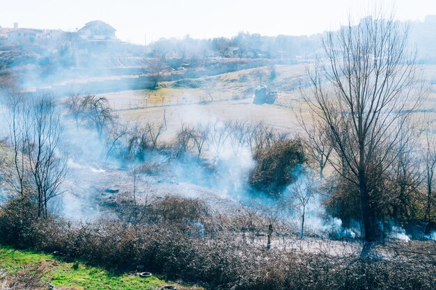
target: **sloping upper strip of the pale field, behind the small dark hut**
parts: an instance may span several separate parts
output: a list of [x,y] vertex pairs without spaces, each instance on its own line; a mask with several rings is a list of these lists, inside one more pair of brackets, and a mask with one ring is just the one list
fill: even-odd
[[157,90],[134,90],[104,94],[118,110],[148,108],[150,106],[176,106],[250,98],[260,83],[279,92],[278,104],[292,97],[304,76],[304,65],[275,65],[275,78],[270,79],[271,68],[228,72],[198,79],[182,79],[160,83]]

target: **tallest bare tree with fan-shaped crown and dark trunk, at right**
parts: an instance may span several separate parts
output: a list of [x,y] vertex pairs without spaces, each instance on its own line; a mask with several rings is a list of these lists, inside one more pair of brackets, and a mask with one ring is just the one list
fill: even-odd
[[[408,27],[393,17],[366,17],[328,33],[308,73],[306,103],[328,128],[336,159],[329,163],[359,188],[367,241],[377,239],[376,212],[368,188],[372,168],[389,168],[398,150],[400,128],[419,105],[414,57],[407,54]],[[336,162],[340,161],[340,162]],[[345,175],[344,173],[347,172]]]

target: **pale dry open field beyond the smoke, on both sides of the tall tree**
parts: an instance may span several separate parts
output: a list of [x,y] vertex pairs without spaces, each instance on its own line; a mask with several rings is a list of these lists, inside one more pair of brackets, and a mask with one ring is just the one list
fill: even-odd
[[[181,124],[198,124],[214,120],[244,120],[264,122],[279,131],[301,133],[295,113],[302,110],[306,122],[310,122],[308,110],[299,93],[304,83],[304,65],[275,65],[276,77],[269,79],[270,67],[240,70],[199,79],[182,80],[187,84],[175,86],[176,82],[164,82],[157,90],[128,90],[103,94],[124,122],[164,122],[169,128],[164,138],[173,136]],[[436,65],[423,66],[423,74],[432,79]],[[260,83],[269,90],[276,90],[278,98],[273,105],[254,105],[254,88]],[[207,90],[201,83],[212,81]],[[190,88],[189,86],[198,86]],[[210,99],[210,95],[212,99]],[[419,118],[426,116],[435,120],[436,92],[430,88],[424,99]]]

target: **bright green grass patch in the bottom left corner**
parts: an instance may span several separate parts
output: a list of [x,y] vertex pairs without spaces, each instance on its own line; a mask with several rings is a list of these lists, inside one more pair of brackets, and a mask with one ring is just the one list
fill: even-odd
[[[159,289],[173,284],[155,277],[139,277],[135,273],[113,273],[104,268],[87,266],[78,261],[66,262],[28,250],[15,250],[0,246],[0,270],[15,275],[25,268],[43,268],[42,280],[52,282],[56,287],[74,290],[145,290]],[[180,287],[178,289],[189,289]]]

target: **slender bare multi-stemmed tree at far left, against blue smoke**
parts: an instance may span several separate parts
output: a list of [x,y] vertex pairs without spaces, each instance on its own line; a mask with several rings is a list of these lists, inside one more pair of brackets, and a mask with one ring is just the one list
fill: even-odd
[[48,202],[61,193],[67,171],[61,153],[60,113],[49,95],[26,97],[9,90],[3,95],[7,106],[10,145],[14,152],[17,191],[36,194],[38,217],[48,216]]

